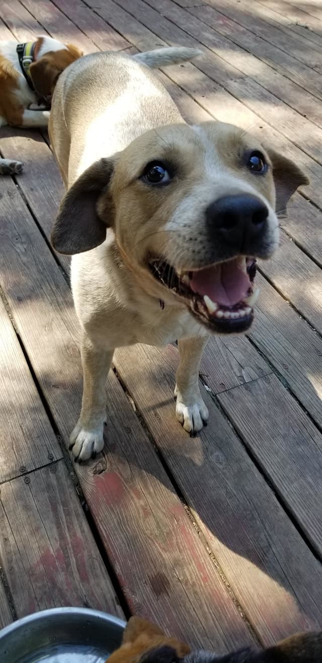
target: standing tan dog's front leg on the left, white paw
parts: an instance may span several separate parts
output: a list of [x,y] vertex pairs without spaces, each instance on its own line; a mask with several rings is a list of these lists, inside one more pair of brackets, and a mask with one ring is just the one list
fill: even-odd
[[70,450],[76,461],[95,457],[96,453],[103,449],[106,418],[105,383],[112,359],[113,350],[102,349],[83,335],[81,339],[83,399],[78,424],[70,436]]

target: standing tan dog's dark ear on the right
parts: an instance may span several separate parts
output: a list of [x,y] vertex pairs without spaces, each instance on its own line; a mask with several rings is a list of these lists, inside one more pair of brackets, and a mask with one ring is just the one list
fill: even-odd
[[283,154],[272,149],[266,149],[272,161],[273,178],[276,189],[276,211],[285,211],[288,200],[303,184],[309,184],[309,179],[301,168]]

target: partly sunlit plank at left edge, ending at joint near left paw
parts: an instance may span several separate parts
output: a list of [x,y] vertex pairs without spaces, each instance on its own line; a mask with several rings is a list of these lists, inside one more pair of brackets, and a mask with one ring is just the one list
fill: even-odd
[[0,482],[61,458],[58,441],[1,298],[0,394]]

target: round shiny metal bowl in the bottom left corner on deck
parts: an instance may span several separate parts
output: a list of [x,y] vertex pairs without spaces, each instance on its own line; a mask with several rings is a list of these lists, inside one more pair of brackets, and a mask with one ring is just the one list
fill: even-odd
[[1,663],[105,663],[125,622],[87,608],[54,608],[0,631]]

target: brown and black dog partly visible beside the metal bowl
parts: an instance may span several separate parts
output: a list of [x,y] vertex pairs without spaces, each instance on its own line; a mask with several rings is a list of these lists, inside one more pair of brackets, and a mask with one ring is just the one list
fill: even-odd
[[258,651],[246,647],[217,656],[211,652],[190,652],[189,646],[168,638],[153,624],[131,617],[123,642],[106,663],[321,663],[322,633],[299,633]]

